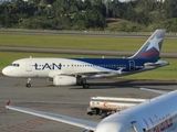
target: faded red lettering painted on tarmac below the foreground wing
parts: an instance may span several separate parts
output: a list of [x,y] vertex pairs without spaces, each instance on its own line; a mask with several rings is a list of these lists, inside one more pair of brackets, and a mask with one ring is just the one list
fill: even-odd
[[6,129],[1,129],[0,132],[30,132],[31,130],[48,123],[49,119],[43,119],[43,118],[37,118],[33,120],[28,120],[22,123],[18,123],[15,125],[10,125]]

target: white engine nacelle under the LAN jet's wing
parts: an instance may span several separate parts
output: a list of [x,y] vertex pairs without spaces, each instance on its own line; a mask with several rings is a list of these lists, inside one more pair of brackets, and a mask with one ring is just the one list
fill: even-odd
[[76,77],[58,75],[53,77],[53,85],[55,86],[72,86],[76,85]]

